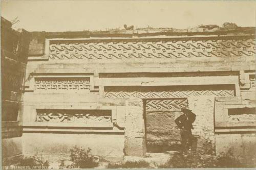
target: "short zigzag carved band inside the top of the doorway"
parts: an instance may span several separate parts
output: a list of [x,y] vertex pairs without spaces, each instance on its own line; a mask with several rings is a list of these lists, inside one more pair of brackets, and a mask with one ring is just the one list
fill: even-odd
[[187,99],[146,100],[146,111],[168,110],[175,111],[188,105]]

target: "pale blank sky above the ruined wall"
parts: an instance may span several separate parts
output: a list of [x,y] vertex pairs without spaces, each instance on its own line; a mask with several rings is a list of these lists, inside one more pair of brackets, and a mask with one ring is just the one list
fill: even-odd
[[255,27],[254,1],[1,1],[1,15],[18,17],[14,29],[83,31],[134,27],[186,29],[234,22]]

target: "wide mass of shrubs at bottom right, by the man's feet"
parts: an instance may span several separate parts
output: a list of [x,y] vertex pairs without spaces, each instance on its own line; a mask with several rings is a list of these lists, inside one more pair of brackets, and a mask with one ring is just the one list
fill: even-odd
[[247,155],[243,161],[235,157],[231,151],[214,156],[211,140],[203,139],[201,147],[196,151],[176,153],[170,160],[161,165],[164,168],[197,168],[197,167],[255,167],[255,155]]

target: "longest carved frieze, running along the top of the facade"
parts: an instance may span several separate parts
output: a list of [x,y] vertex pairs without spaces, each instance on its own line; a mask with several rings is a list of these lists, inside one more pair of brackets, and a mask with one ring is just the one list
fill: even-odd
[[130,39],[73,40],[50,43],[51,60],[57,59],[132,59],[200,58],[254,56],[253,38],[247,39]]

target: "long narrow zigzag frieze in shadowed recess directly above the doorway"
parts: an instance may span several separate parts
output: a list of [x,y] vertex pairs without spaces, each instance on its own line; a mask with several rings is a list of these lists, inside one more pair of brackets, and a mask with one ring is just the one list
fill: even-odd
[[189,96],[212,95],[212,96],[234,96],[234,89],[206,89],[206,88],[146,88],[146,87],[105,87],[106,98],[187,98]]

